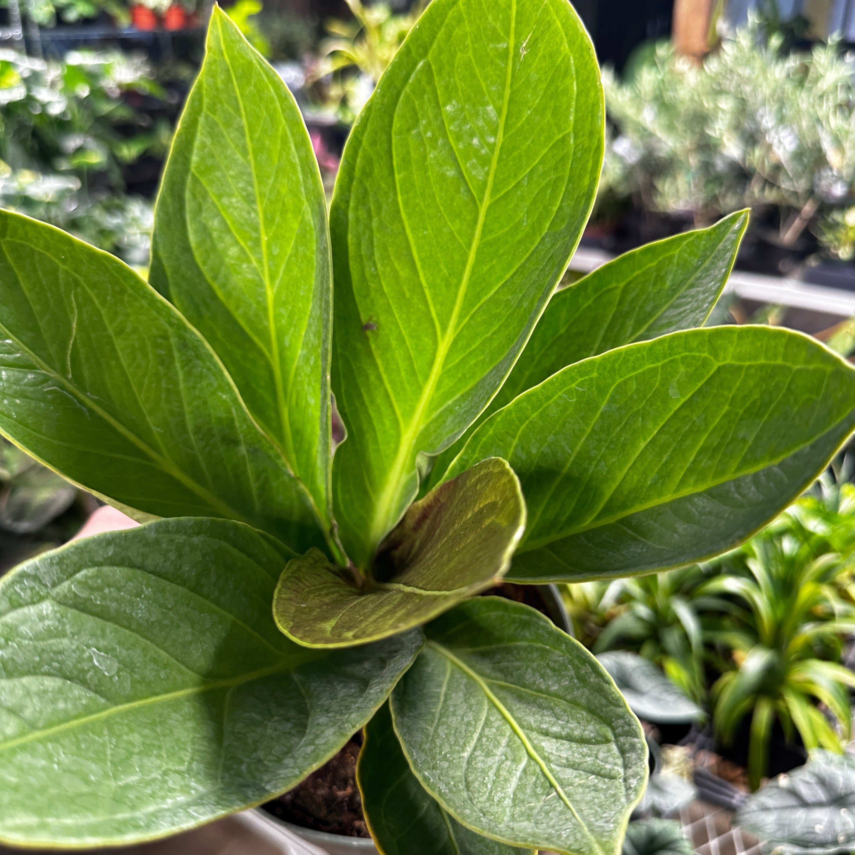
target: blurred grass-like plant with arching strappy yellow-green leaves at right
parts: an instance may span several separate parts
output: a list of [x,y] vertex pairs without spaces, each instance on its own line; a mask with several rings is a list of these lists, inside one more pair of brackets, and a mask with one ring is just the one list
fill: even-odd
[[[835,516],[845,516],[844,524],[829,527]],[[851,568],[851,512],[840,515],[811,496],[722,558],[721,574],[699,587],[701,595],[730,600],[728,608],[719,599],[726,613],[705,632],[733,656],[712,687],[713,722],[728,742],[750,716],[752,789],[767,772],[775,720],[787,738],[798,732],[808,750],[842,752],[849,738],[855,675],[840,664],[840,652],[855,629],[855,607],[845,596]]]

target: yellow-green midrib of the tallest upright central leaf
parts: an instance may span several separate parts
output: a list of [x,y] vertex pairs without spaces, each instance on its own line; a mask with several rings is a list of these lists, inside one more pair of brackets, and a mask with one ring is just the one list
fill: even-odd
[[[390,520],[392,518],[392,508],[396,504],[396,494],[398,486],[403,478],[404,469],[406,469],[410,457],[412,457],[413,447],[416,444],[416,439],[422,431],[422,420],[425,411],[428,409],[433,398],[433,392],[439,383],[439,375],[442,373],[445,358],[448,356],[448,351],[451,349],[451,343],[455,333],[457,333],[457,319],[463,309],[463,300],[466,297],[466,292],[469,288],[469,280],[472,275],[472,269],[475,267],[475,258],[481,246],[481,233],[486,221],[486,212],[490,207],[492,186],[496,177],[498,168],[498,156],[502,149],[504,140],[504,125],[507,120],[508,106],[510,103],[510,84],[513,78],[513,57],[514,57],[514,41],[516,33],[516,0],[511,0],[510,9],[510,32],[508,35],[508,60],[505,73],[504,93],[502,97],[502,111],[499,115],[498,131],[496,133],[496,147],[493,150],[492,160],[490,162],[490,172],[487,175],[486,187],[484,191],[484,201],[481,203],[478,211],[478,220],[475,224],[475,233],[472,237],[472,243],[469,246],[469,257],[466,260],[466,267],[463,270],[460,286],[457,289],[457,298],[455,299],[454,308],[451,311],[451,317],[448,321],[448,326],[445,329],[445,335],[439,341],[439,347],[433,357],[433,366],[428,375],[428,381],[422,389],[422,395],[416,404],[416,410],[410,419],[410,425],[404,432],[404,437],[398,445],[398,454],[395,457],[392,468],[386,476],[385,486],[380,491],[376,504],[374,504],[374,516],[371,520],[368,534],[368,542],[370,550],[374,551],[374,546],[380,543],[380,539],[386,534],[390,528]],[[398,195],[398,203],[400,203],[400,195]],[[406,217],[402,210],[402,219],[406,221]],[[414,252],[415,256],[415,252]],[[421,268],[420,268],[421,269]],[[367,561],[370,561],[373,555],[369,555]]]

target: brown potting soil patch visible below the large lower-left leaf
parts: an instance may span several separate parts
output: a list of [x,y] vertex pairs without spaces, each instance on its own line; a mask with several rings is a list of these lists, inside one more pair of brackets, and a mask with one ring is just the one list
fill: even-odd
[[362,734],[357,734],[332,760],[290,792],[268,802],[264,810],[301,828],[370,837],[357,787],[357,758],[362,741]]

